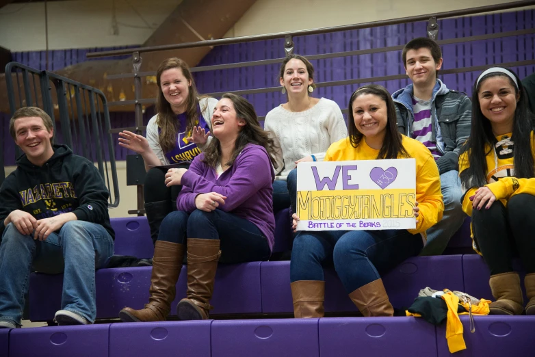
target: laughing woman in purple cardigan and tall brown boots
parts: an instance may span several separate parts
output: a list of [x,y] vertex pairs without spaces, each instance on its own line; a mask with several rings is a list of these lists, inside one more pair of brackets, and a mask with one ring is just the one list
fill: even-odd
[[161,222],[154,250],[151,297],[141,310],[123,308],[122,321],[164,321],[187,250],[187,297],[181,320],[207,319],[218,261],[265,261],[273,248],[274,142],[255,108],[224,94],[211,118],[213,140],[189,169],[170,169],[166,185],[182,185],[178,211]]

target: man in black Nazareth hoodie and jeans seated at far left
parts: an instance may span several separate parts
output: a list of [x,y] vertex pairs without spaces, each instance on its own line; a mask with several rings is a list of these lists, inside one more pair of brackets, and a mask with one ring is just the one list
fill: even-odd
[[0,188],[0,328],[21,326],[31,270],[64,272],[57,323],[93,323],[94,271],[114,252],[103,178],[88,159],[53,145],[42,109],[18,109],[10,133],[24,155]]

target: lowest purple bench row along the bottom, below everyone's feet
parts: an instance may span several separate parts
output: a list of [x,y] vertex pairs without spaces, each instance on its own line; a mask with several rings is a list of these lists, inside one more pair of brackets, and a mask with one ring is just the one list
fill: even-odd
[[[455,356],[532,356],[531,316],[461,317]],[[8,341],[9,339],[9,341]],[[416,317],[112,323],[0,330],[0,356],[451,356],[445,324]]]

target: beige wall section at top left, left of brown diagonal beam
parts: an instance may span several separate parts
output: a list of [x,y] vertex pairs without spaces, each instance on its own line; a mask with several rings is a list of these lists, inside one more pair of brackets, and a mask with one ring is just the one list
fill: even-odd
[[[142,44],[181,2],[49,1],[49,49]],[[0,46],[11,51],[46,49],[44,3],[12,3],[1,8]]]

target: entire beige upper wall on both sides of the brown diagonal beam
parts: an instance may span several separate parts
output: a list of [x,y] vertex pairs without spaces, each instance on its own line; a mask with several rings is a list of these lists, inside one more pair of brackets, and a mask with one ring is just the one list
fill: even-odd
[[[364,23],[512,1],[257,0],[225,37]],[[142,44],[179,3],[181,0],[50,1],[49,49]],[[224,7],[225,2],[221,3]],[[190,25],[194,29],[203,26]],[[46,48],[44,34],[44,3],[12,3],[0,8],[0,46],[11,51],[42,51]]]

